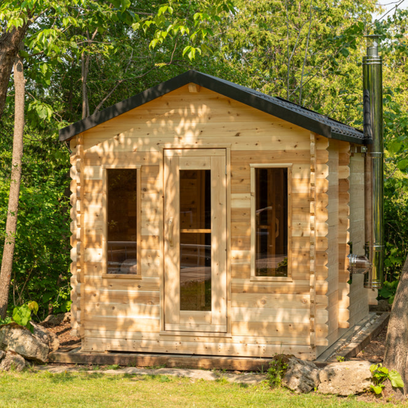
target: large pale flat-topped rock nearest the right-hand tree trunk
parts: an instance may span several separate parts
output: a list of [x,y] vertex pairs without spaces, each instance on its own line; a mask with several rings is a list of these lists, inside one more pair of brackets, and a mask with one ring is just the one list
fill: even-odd
[[323,394],[343,396],[365,392],[371,384],[370,366],[368,361],[329,364],[320,370],[318,390]]

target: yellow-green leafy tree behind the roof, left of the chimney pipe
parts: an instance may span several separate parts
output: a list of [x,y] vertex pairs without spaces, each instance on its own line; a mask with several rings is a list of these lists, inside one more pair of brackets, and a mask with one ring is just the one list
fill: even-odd
[[362,36],[373,7],[237,0],[223,20],[224,64],[240,67],[235,82],[351,123],[360,116]]

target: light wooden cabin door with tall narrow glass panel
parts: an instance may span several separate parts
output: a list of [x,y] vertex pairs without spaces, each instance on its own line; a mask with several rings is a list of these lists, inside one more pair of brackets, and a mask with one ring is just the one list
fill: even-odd
[[165,330],[226,331],[225,149],[164,150]]

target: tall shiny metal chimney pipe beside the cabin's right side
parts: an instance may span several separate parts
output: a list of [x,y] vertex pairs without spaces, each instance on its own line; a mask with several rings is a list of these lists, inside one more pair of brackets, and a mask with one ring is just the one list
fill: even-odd
[[365,189],[370,213],[366,213],[365,250],[372,263],[364,278],[364,287],[380,289],[384,270],[384,148],[382,141],[382,59],[378,55],[379,36],[368,35],[367,55],[363,57],[364,136],[372,140],[365,159],[366,172],[371,174]]

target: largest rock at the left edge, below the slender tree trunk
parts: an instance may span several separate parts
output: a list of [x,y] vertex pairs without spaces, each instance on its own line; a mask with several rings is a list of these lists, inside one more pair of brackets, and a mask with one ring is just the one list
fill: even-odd
[[13,350],[27,360],[45,363],[49,348],[31,331],[16,323],[6,324],[0,328],[0,349]]

